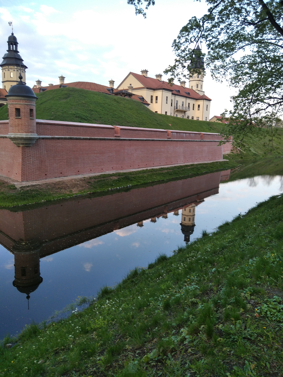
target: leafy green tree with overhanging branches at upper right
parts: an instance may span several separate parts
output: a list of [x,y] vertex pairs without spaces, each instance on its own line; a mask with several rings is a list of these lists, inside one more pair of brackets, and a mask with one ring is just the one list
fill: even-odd
[[[128,0],[143,14],[151,0]],[[243,139],[269,124],[283,111],[283,0],[206,0],[207,14],[192,17],[173,41],[176,59],[165,70],[173,78],[195,73],[195,49],[204,42],[205,57],[212,77],[226,79],[238,89],[232,97],[226,134]],[[200,56],[197,56],[199,58]]]

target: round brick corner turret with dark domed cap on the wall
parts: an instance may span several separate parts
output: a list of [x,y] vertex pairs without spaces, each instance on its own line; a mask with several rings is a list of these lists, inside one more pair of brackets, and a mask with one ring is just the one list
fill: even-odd
[[35,101],[36,95],[22,81],[22,75],[17,85],[11,86],[5,96],[8,100],[9,133],[8,138],[16,146],[31,146],[38,136],[36,133]]

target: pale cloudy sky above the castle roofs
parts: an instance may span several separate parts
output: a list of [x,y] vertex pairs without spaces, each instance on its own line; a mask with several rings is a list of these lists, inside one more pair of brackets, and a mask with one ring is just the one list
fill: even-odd
[[[13,21],[29,86],[38,79],[42,86],[58,84],[63,75],[65,83],[109,86],[113,79],[117,87],[129,72],[147,69],[149,77],[163,74],[174,63],[172,42],[181,27],[206,10],[204,0],[156,0],[145,19],[135,15],[127,0],[0,0],[0,51],[2,56],[6,53],[12,32],[8,22]],[[205,51],[205,45],[202,48]],[[231,109],[235,90],[212,80],[208,70],[203,88],[212,99],[211,118]]]

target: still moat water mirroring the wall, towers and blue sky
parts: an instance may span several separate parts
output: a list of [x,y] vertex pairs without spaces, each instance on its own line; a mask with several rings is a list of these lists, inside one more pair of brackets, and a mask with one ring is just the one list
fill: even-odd
[[237,171],[0,210],[0,338],[95,296],[283,191],[283,173],[233,176]]

